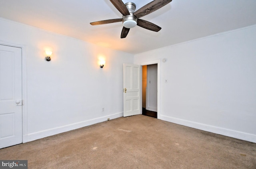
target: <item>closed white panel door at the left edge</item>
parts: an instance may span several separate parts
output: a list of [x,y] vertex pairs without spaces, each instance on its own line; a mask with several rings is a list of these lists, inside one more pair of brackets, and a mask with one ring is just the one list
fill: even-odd
[[0,148],[22,143],[22,51],[0,45]]

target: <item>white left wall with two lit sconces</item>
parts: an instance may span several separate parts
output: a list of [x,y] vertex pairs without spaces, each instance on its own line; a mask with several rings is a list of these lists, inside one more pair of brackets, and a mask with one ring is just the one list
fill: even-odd
[[123,63],[134,55],[4,19],[0,28],[0,43],[26,50],[24,142],[123,116]]

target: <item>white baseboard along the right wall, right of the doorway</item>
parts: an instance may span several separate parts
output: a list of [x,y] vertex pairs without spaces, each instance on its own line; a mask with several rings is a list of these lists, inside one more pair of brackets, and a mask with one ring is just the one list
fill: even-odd
[[256,143],[256,135],[161,115],[161,120]]

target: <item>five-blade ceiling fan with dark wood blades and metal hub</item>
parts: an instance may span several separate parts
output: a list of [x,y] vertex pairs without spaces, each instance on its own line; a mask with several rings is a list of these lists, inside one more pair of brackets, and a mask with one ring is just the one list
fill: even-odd
[[91,25],[101,25],[101,24],[110,24],[114,22],[123,22],[123,29],[121,33],[121,38],[125,38],[129,33],[130,28],[134,28],[136,25],[151,30],[151,31],[160,31],[159,26],[148,22],[146,20],[139,19],[142,16],[150,14],[166,4],[172,2],[172,0],[153,0],[152,2],[146,4],[142,8],[136,9],[136,5],[133,2],[127,2],[124,4],[122,0],[110,0],[110,2],[116,7],[116,9],[123,15],[122,18],[119,19],[111,19],[111,20],[102,20],[97,22],[91,22]]

